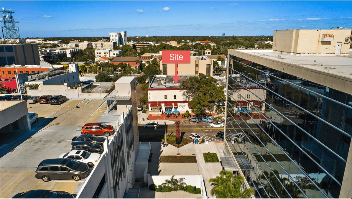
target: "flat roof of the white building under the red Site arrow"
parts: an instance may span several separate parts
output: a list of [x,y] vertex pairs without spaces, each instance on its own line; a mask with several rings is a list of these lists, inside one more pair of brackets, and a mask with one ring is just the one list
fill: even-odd
[[150,82],[149,88],[181,88],[181,82],[185,81],[190,76],[197,75],[179,76],[180,79],[177,83],[175,83],[174,79],[172,78],[173,76],[175,75],[156,75],[152,82]]

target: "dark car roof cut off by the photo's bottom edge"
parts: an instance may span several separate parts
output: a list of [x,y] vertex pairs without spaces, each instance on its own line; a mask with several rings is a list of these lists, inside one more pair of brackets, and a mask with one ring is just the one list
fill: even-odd
[[75,196],[64,191],[34,189],[18,193],[12,198],[75,198]]

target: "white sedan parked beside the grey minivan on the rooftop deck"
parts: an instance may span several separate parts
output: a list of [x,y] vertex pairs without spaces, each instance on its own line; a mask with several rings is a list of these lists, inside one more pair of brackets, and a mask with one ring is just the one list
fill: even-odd
[[61,154],[59,158],[70,158],[78,162],[86,163],[88,166],[93,167],[99,161],[100,154],[89,153],[88,151],[84,150],[72,150],[68,153]]

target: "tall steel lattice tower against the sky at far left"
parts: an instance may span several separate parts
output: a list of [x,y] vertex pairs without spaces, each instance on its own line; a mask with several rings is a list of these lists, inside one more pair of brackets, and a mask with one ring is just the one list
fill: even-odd
[[1,23],[4,23],[4,26],[1,27],[2,37],[4,39],[20,38],[20,32],[18,26],[16,26],[16,23],[19,23],[20,21],[14,20],[12,16],[12,13],[15,11],[5,10],[4,7],[2,7],[0,12],[2,13]]

